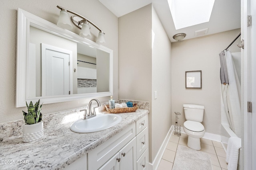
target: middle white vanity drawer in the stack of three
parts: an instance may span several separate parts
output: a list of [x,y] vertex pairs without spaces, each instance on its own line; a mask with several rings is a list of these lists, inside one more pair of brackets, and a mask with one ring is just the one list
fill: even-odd
[[148,148],[148,127],[136,136],[137,158]]

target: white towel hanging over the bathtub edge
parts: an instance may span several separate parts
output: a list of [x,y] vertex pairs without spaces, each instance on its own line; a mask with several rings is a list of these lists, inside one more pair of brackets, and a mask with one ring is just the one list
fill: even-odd
[[241,148],[241,138],[230,137],[228,139],[228,148],[226,154],[226,162],[228,162],[228,170],[237,170],[239,149]]

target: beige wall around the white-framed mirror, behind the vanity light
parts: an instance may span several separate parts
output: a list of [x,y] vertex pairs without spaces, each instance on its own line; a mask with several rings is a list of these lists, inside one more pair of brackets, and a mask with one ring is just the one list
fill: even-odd
[[[17,9],[21,8],[52,23],[57,23],[60,10],[56,6],[63,6],[87,17],[100,27],[106,34],[104,46],[114,51],[114,98],[118,98],[118,18],[112,14],[98,0],[4,0],[0,2],[0,123],[23,119],[22,110],[26,107],[15,107],[16,86],[16,29]],[[79,33],[76,26],[73,32]],[[92,41],[96,41],[98,30],[91,28]],[[106,102],[108,97],[99,98]],[[42,113],[54,113],[66,109],[86,106],[90,99],[44,104]]]

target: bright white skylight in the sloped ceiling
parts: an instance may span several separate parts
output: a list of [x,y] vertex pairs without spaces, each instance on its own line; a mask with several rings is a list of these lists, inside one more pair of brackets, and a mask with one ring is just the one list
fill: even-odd
[[176,29],[209,22],[214,0],[168,0]]

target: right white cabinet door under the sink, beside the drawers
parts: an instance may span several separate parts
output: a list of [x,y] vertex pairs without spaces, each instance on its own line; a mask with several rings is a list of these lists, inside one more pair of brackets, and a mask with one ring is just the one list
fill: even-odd
[[120,170],[136,170],[136,138],[132,139],[120,151]]

